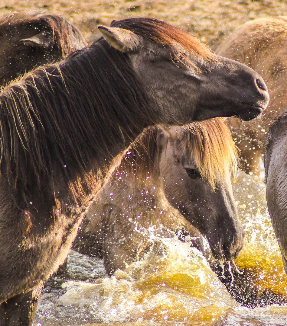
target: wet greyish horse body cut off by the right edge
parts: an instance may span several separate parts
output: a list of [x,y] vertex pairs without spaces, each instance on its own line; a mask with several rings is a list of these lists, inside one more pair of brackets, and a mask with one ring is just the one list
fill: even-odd
[[281,112],[269,128],[264,151],[266,199],[273,229],[287,274],[287,110]]

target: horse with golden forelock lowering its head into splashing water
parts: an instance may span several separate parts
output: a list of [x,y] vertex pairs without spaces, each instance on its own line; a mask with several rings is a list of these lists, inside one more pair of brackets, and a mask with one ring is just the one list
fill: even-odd
[[243,246],[231,189],[236,158],[222,118],[148,129],[97,196],[73,248],[104,258],[114,274],[151,250],[154,233],[173,230],[205,253],[203,234],[216,258],[233,259]]

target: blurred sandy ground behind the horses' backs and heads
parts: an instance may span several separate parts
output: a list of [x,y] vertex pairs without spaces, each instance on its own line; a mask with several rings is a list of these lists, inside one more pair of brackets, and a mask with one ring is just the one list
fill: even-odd
[[44,10],[74,23],[92,42],[98,24],[133,16],[155,17],[198,36],[214,50],[222,39],[248,20],[287,15],[287,0],[0,0],[0,14]]

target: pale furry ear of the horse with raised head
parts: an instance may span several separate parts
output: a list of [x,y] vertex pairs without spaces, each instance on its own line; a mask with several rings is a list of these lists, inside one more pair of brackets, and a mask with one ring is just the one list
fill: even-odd
[[104,39],[115,49],[121,52],[136,51],[140,46],[141,37],[128,29],[118,27],[106,27],[99,25]]

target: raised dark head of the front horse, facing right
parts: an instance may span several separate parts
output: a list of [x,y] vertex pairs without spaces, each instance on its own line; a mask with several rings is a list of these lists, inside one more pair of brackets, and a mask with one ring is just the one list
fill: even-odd
[[155,105],[155,122],[162,122],[162,111],[167,123],[177,125],[216,116],[250,120],[269,102],[259,74],[215,55],[165,22],[133,18],[99,29],[111,46],[129,57],[150,98],[160,103],[160,108]]

